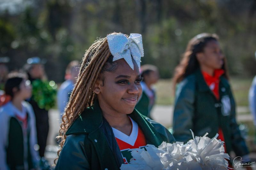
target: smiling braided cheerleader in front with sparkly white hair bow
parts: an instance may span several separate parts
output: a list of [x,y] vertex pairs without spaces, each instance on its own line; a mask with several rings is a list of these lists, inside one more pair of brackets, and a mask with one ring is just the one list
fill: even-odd
[[140,34],[109,34],[86,51],[62,117],[56,169],[119,169],[132,158],[129,149],[175,141],[134,109],[141,56]]

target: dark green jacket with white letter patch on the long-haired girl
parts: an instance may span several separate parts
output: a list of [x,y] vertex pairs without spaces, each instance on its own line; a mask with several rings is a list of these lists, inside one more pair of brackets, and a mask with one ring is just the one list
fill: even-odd
[[220,100],[217,100],[204,81],[201,70],[189,75],[177,86],[173,114],[173,136],[186,143],[206,132],[212,138],[223,131],[227,152],[234,150],[237,156],[248,154],[248,149],[236,123],[236,105],[228,80],[220,77]]

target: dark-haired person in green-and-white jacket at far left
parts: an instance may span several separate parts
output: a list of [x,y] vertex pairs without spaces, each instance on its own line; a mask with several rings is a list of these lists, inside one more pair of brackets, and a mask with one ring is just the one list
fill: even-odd
[[31,97],[30,82],[22,74],[10,74],[5,94],[11,101],[0,108],[0,169],[33,169],[40,157],[36,140],[35,116],[25,102]]

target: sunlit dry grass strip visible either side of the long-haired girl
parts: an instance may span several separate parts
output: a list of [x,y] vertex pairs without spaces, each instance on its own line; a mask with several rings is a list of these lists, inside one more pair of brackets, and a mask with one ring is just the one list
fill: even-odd
[[[252,78],[230,79],[231,88],[237,106],[248,106],[248,92],[252,83]],[[156,104],[172,105],[174,102],[174,92],[172,89],[172,79],[160,79],[155,85]]]

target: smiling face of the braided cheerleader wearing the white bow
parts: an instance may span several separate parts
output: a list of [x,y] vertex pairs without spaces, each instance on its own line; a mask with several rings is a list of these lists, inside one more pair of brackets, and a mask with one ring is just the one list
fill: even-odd
[[140,71],[135,62],[134,70],[124,59],[117,60],[116,63],[116,70],[105,71],[101,75],[104,80],[100,78],[96,82],[94,92],[103,112],[108,110],[116,114],[130,114],[142,92]]

